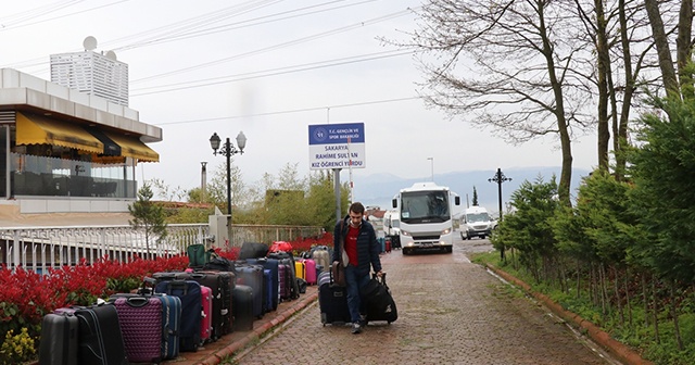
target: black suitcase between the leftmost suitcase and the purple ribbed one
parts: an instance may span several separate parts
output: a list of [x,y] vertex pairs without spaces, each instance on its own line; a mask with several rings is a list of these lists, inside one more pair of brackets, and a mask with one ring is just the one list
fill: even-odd
[[77,363],[128,365],[118,313],[113,304],[75,309],[78,319]]

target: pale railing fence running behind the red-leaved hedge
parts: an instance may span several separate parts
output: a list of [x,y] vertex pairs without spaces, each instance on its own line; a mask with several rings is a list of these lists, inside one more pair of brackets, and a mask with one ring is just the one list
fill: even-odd
[[[321,234],[320,227],[233,225],[230,247],[243,242],[292,241]],[[121,262],[135,257],[155,259],[186,253],[193,243],[211,242],[207,224],[168,225],[167,236],[146,239],[143,230],[130,226],[9,227],[0,228],[0,256],[8,268],[22,265],[45,273],[49,267],[92,263],[103,256]]]

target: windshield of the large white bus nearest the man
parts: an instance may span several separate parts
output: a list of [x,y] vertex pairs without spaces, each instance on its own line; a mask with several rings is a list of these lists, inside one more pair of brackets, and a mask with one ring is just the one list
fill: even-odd
[[410,191],[401,196],[401,222],[440,223],[451,219],[446,191]]

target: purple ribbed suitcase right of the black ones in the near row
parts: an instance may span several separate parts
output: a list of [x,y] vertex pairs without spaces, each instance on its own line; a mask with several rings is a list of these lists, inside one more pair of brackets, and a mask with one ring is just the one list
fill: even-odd
[[114,305],[128,361],[162,361],[162,300],[155,297],[116,298]]

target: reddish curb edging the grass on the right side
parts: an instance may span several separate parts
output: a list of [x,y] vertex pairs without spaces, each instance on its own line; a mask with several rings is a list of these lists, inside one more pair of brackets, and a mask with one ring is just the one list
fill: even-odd
[[565,310],[561,305],[554,302],[547,295],[542,294],[540,292],[534,291],[530,285],[517,279],[516,277],[509,275],[508,273],[502,270],[501,268],[493,266],[491,264],[485,264],[488,268],[493,270],[495,274],[500,275],[505,280],[514,284],[517,287],[523,289],[527,293],[531,294],[533,298],[543,302],[543,304],[551,310],[555,315],[565,319],[566,322],[572,323],[578,327],[586,330],[589,337],[598,343],[602,348],[610,352],[610,354],[615,355],[618,360],[620,360],[624,364],[629,365],[653,365],[654,363],[642,358],[639,353],[632,350],[627,344],[615,340],[608,335],[608,332],[602,330],[598,326],[593,323],[582,318],[576,313]]

